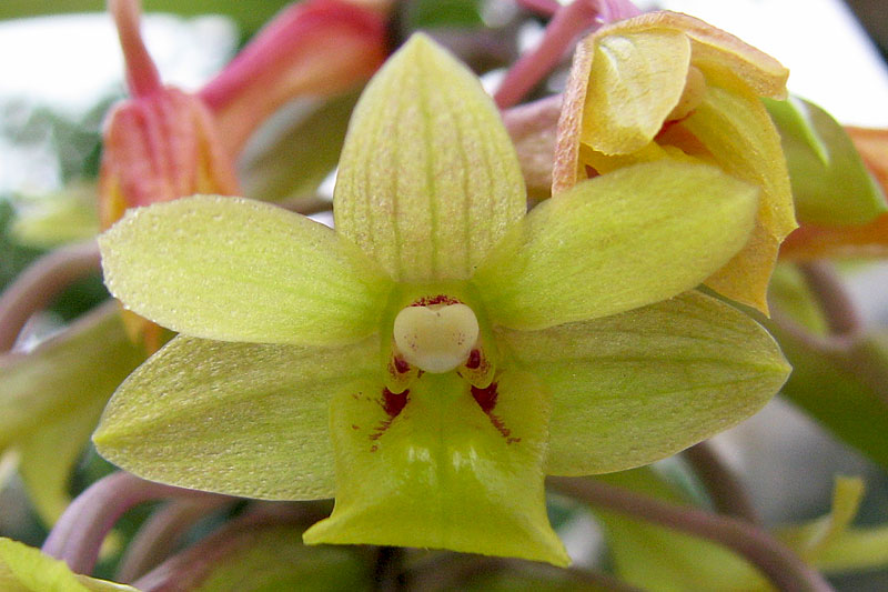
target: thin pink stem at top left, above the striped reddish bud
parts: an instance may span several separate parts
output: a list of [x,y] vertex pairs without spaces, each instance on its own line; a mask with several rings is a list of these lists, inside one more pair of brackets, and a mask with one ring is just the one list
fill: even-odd
[[148,53],[139,30],[139,0],[108,0],[108,10],[118,28],[127,69],[127,84],[133,97],[147,97],[162,87],[154,60]]

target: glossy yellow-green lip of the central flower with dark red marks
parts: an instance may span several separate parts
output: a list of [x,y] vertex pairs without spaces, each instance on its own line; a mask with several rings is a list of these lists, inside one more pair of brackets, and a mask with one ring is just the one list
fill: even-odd
[[455,373],[426,373],[400,410],[381,384],[336,398],[336,506],[305,532],[305,542],[451,549],[566,565],[544,499],[548,394],[523,372],[504,372],[492,389],[473,397]]

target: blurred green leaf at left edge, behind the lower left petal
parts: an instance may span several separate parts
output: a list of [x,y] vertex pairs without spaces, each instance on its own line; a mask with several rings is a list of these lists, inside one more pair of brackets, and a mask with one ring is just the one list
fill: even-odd
[[41,518],[65,508],[71,470],[118,384],[144,359],[111,304],[34,351],[0,357],[0,450],[14,449]]

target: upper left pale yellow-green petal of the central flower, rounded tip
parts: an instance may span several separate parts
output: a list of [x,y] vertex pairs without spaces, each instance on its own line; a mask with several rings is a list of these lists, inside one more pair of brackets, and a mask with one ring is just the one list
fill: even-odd
[[194,195],[127,213],[99,238],[123,304],[181,333],[329,345],[377,330],[391,281],[324,225],[236,198]]

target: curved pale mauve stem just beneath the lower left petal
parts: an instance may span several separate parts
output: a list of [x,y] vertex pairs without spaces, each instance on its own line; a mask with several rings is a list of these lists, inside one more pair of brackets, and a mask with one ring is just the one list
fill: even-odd
[[131,508],[165,499],[206,499],[220,495],[144,481],[127,472],[110,474],[71,502],[43,543],[43,552],[68,563],[75,573],[92,572],[102,541]]

